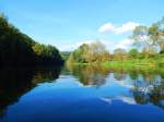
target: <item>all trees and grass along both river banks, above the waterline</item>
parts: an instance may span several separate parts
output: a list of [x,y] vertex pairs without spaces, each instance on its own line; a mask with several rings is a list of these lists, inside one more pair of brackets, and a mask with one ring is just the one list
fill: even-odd
[[151,26],[137,26],[130,50],[109,52],[99,40],[83,44],[73,52],[33,40],[0,14],[0,65],[101,65],[103,68],[164,68],[164,19]]

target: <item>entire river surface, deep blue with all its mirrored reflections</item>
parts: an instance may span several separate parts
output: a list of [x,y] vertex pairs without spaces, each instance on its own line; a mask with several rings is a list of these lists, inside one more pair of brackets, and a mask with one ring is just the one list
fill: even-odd
[[164,122],[164,70],[2,69],[0,121]]

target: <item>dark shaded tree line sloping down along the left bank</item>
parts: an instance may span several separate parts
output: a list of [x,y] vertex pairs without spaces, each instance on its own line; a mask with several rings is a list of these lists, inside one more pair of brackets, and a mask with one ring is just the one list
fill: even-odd
[[58,49],[42,45],[20,32],[0,14],[0,65],[62,64]]

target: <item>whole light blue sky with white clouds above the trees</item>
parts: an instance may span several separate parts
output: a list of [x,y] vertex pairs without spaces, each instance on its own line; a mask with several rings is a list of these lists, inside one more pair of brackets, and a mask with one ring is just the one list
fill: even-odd
[[129,48],[134,26],[164,16],[163,0],[0,0],[0,12],[23,33],[60,50],[102,40]]

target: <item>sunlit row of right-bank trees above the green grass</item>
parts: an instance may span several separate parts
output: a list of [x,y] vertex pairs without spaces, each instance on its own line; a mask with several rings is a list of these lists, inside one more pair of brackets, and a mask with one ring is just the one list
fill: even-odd
[[92,44],[81,45],[70,54],[68,62],[91,63],[163,57],[164,17],[150,26],[137,26],[129,38],[133,41],[134,48],[128,51],[117,48],[109,53],[105,45],[96,40]]

